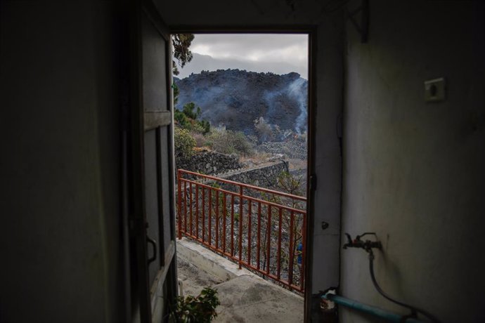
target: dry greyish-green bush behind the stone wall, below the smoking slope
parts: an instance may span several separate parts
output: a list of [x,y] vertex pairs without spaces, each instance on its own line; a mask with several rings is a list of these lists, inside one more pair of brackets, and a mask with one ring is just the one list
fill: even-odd
[[251,155],[254,153],[252,144],[241,131],[212,129],[207,136],[207,145],[224,154]]

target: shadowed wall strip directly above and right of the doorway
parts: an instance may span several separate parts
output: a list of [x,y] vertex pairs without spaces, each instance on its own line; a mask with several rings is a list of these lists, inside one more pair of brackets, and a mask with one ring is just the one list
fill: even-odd
[[[183,10],[174,1],[154,1],[164,21],[182,30],[311,26],[316,30],[313,75],[316,107],[313,116],[315,154],[311,173],[317,186],[313,195],[314,225],[311,292],[337,286],[339,280],[341,156],[336,125],[342,112],[342,11],[332,1],[194,1],[184,2]],[[323,230],[321,223],[329,223]],[[318,311],[318,309],[317,309]]]

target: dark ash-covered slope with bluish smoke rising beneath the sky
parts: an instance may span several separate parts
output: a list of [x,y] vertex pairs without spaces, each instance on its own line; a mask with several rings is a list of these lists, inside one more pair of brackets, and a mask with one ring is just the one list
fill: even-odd
[[176,79],[176,107],[193,102],[202,108],[202,119],[213,126],[254,133],[254,119],[297,133],[306,130],[307,81],[293,72],[284,75],[244,70],[202,71]]

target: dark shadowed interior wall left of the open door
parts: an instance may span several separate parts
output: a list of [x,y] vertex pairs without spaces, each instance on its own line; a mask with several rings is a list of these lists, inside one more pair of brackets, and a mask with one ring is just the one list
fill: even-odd
[[0,6],[0,321],[119,321],[112,4]]

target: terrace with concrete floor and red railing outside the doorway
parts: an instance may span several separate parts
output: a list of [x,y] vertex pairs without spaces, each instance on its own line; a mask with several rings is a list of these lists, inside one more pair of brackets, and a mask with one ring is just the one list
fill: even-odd
[[[188,279],[184,289],[200,284],[198,276],[219,277],[207,284],[219,291],[221,312],[237,316],[249,306],[256,319],[271,315],[267,303],[276,302],[278,315],[286,309],[302,316],[306,197],[192,171],[177,175],[179,272]],[[193,265],[208,274],[190,274],[187,268]],[[248,300],[251,294],[259,295],[259,301]]]

